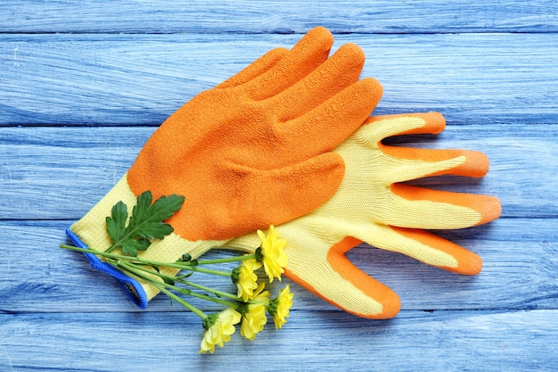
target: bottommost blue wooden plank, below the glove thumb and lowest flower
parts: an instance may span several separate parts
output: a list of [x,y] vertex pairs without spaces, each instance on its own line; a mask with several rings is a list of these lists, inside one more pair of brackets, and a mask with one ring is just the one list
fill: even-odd
[[[409,311],[392,321],[296,311],[253,342],[199,355],[192,313],[0,315],[3,371],[555,371],[557,310]],[[342,327],[340,327],[342,325]]]

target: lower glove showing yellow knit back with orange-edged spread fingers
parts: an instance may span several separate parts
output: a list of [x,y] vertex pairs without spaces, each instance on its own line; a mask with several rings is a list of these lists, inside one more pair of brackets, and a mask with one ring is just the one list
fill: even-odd
[[[499,217],[499,200],[402,182],[439,175],[479,178],[488,171],[487,157],[464,150],[382,145],[389,136],[436,134],[444,127],[444,118],[434,112],[370,117],[333,150],[347,169],[332,199],[276,227],[288,243],[285,276],[359,317],[392,318],[400,308],[398,295],[345,256],[357,244],[400,252],[459,274],[478,274],[479,256],[423,229],[487,223]],[[250,252],[258,246],[258,236],[242,236],[228,246]]]

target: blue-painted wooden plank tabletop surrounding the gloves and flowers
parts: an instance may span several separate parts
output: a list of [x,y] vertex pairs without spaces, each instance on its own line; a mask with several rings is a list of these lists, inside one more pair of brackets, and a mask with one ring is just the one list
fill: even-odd
[[[382,82],[375,113],[442,112],[404,145],[488,154],[486,178],[421,185],[498,196],[500,219],[441,235],[477,252],[461,277],[359,247],[391,320],[291,284],[291,318],[199,355],[199,318],[139,310],[64,229],[109,191],[182,103],[323,25]],[[558,370],[558,4],[4,0],[0,3],[0,371]]]

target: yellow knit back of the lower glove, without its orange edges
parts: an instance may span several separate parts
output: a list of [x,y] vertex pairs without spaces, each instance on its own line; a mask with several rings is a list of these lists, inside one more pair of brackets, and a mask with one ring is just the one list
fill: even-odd
[[[374,318],[382,314],[382,303],[332,269],[327,257],[332,245],[353,236],[431,265],[455,268],[457,261],[452,255],[399,235],[389,225],[461,228],[480,222],[478,211],[451,203],[409,201],[391,192],[393,183],[452,169],[466,160],[458,156],[446,161],[411,161],[382,152],[383,138],[424,125],[422,118],[398,116],[357,129],[334,150],[341,154],[347,167],[337,193],[315,211],[277,227],[288,242],[289,271],[327,301],[359,316]],[[249,249],[254,240],[253,235],[242,236],[228,246]]]

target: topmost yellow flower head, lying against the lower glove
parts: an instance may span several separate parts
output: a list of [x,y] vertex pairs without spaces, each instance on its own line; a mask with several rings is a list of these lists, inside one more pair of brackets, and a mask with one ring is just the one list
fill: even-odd
[[273,225],[269,227],[267,236],[261,230],[258,230],[258,236],[261,239],[260,257],[269,283],[273,283],[274,277],[281,280],[283,268],[287,266],[287,254],[284,251],[287,241],[279,238],[279,233]]

